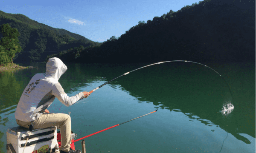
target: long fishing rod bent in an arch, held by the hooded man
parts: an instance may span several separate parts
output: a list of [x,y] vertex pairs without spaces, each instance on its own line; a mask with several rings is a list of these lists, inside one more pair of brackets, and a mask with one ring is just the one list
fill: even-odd
[[[186,61],[186,60],[172,60],[172,61],[165,61],[165,62],[157,62],[157,63],[154,63],[154,64],[146,65],[146,66],[143,66],[143,67],[141,67],[141,68],[137,68],[137,69],[135,69],[135,70],[126,72],[125,74],[122,74],[122,75],[120,75],[119,77],[122,77],[122,76],[124,76],[124,75],[130,74],[131,72],[137,71],[137,70],[139,70],[139,69],[146,68],[146,67],[148,67],[148,66],[157,65],[157,64],[162,64],[162,63],[166,63],[166,62],[191,62],[191,63],[195,63],[195,64],[199,64],[199,65],[204,65],[204,64],[201,64],[201,63],[198,63],[198,62],[192,62],[192,61]],[[207,67],[207,68],[210,68],[210,67],[207,66],[207,65],[204,65],[204,66]],[[211,69],[212,71],[215,71],[213,68],[210,68],[210,69]],[[224,80],[224,82],[227,84],[226,80],[221,76],[221,74],[219,74],[217,71],[215,71],[215,73],[217,73],[217,74]],[[115,79],[117,79],[117,78],[119,78],[119,77],[116,77]],[[115,79],[112,79],[112,80],[110,80],[110,81],[108,81],[108,82],[106,82],[106,83],[100,85],[99,87],[93,89],[92,91],[90,91],[90,94],[93,93],[94,91],[96,91],[97,89],[101,88],[102,86],[104,86],[104,85],[106,85],[106,84],[112,82],[112,81],[115,80]],[[227,87],[228,87],[228,89],[229,89],[229,91],[230,91],[230,96],[231,96],[231,98],[232,98],[231,90],[230,90],[230,87],[229,87],[228,84],[227,84]]]

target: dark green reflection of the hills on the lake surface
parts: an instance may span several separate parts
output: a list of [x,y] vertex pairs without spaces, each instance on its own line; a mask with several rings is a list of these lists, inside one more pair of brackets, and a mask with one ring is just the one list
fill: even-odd
[[[28,66],[38,66],[38,69],[0,72],[0,80],[4,80],[0,82],[1,114],[16,108],[20,95],[31,77],[36,73],[44,73],[45,65],[46,63],[30,63]],[[74,92],[80,87],[90,86],[92,82],[107,82],[145,65],[147,63],[67,63],[68,70],[59,82],[66,93]],[[186,63],[154,65],[116,79],[110,85],[113,88],[119,86],[121,90],[136,97],[139,102],[153,103],[161,109],[170,111],[181,111],[189,117],[191,122],[197,119],[207,126],[219,126],[235,136],[236,139],[250,144],[250,141],[239,133],[245,133],[255,138],[255,118],[247,115],[255,114],[255,79],[253,79],[255,78],[255,65],[241,64],[239,67],[239,64],[230,64],[225,68],[222,66],[217,69],[216,67],[212,68],[225,76],[233,92],[233,99],[218,74],[202,65],[186,65]],[[233,76],[233,74],[235,75]],[[245,81],[249,83],[246,84]],[[250,84],[254,87],[251,88]],[[96,87],[90,86],[90,88],[92,90]],[[250,95],[251,93],[254,95]],[[254,99],[250,98],[253,96]],[[233,113],[225,117],[219,111],[224,102],[228,101],[234,102],[235,109]],[[247,109],[247,113],[244,113],[244,109]],[[14,111],[10,113],[14,113]]]

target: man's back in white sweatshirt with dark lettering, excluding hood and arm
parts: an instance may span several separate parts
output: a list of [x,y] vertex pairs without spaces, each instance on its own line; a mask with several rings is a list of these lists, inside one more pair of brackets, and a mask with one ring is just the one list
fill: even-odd
[[56,83],[58,81],[49,74],[35,74],[20,97],[15,118],[29,122],[41,116],[55,99],[52,90]]

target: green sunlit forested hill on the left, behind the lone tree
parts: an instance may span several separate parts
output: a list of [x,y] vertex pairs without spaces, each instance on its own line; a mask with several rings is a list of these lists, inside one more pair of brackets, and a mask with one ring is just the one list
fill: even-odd
[[[42,62],[47,55],[58,53],[69,48],[97,46],[101,43],[71,33],[70,31],[52,28],[23,14],[10,14],[0,11],[0,25],[8,23],[20,33],[18,40],[23,49],[16,54],[15,62]],[[3,37],[0,34],[0,38]]]

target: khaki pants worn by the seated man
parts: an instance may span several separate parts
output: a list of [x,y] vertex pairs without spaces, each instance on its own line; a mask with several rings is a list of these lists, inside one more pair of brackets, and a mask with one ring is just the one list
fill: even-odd
[[23,122],[16,119],[18,125],[29,128],[32,124],[35,129],[46,128],[51,126],[61,127],[61,147],[62,151],[69,151],[71,144],[71,118],[68,114],[64,113],[44,113],[38,119],[32,122]]

